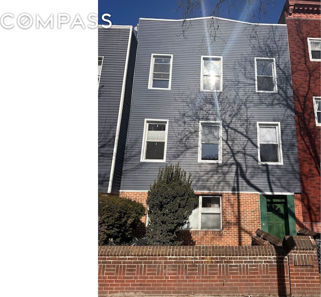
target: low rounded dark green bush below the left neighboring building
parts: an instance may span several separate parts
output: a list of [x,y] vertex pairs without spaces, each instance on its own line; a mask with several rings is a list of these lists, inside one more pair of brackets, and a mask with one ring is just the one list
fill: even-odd
[[98,196],[98,238],[99,245],[106,245],[109,239],[115,244],[127,243],[131,232],[145,214],[141,203],[115,195]]

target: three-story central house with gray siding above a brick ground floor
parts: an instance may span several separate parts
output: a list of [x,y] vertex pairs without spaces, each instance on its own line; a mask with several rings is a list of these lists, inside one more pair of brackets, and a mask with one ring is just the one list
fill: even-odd
[[[183,27],[188,26],[183,36]],[[140,19],[120,195],[145,203],[179,163],[199,207],[186,244],[296,235],[300,202],[286,25]]]

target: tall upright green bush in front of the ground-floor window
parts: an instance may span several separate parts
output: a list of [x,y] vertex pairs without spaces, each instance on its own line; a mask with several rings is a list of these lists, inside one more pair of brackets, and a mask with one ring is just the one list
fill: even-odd
[[178,245],[178,231],[189,219],[198,198],[191,188],[191,174],[177,164],[159,169],[157,180],[150,186],[147,197],[148,245]]

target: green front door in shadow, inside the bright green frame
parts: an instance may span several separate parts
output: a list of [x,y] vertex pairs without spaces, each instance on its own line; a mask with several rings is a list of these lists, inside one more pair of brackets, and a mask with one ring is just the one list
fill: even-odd
[[267,199],[267,227],[268,233],[283,239],[286,235],[285,228],[285,213],[284,213],[285,201],[279,201],[279,199]]

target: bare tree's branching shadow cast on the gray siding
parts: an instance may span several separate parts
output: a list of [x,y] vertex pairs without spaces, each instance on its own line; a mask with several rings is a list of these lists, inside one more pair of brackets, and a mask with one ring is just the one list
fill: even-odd
[[[238,62],[233,65],[233,81],[228,82],[224,79],[224,67],[228,66],[223,64],[222,92],[201,92],[193,87],[180,92],[177,100],[182,102],[183,108],[175,118],[176,127],[179,128],[176,128],[174,137],[170,138],[169,134],[169,139],[176,141],[170,143],[169,140],[168,159],[180,160],[181,166],[192,173],[198,190],[203,186],[204,191],[213,192],[217,188],[237,194],[236,224],[241,222],[239,193],[293,192],[291,183],[283,176],[291,177],[294,185],[299,183],[291,76],[288,63],[284,65],[287,55],[283,54],[287,53],[287,46],[284,40],[277,38],[274,28],[269,32],[268,40],[256,33],[250,32],[249,36],[249,46],[253,49],[251,65],[244,65],[243,61],[248,59],[240,54]],[[280,45],[284,46],[284,50],[280,49]],[[254,57],[275,58],[277,93],[255,92]],[[251,83],[245,85],[245,81]],[[198,163],[195,170],[188,158],[198,155],[195,144],[199,143],[200,121],[222,122],[223,160],[222,163]],[[282,141],[283,165],[259,164],[258,121],[281,123],[281,138],[286,139]],[[238,242],[242,245],[241,234],[245,232],[251,235],[251,232],[242,226],[237,227]]]

